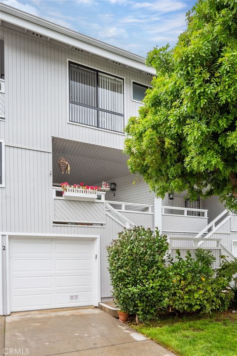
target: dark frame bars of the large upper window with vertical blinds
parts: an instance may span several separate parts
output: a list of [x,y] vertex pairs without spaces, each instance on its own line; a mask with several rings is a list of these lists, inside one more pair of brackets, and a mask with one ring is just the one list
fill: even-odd
[[[83,103],[79,103],[77,101],[73,101],[73,100],[70,100],[71,98],[71,76],[70,76],[70,65],[75,65],[79,68],[85,68],[87,70],[93,70],[95,73],[96,73],[96,106],[91,106],[91,105],[87,105],[87,104],[83,104]],[[124,128],[124,80],[122,78],[119,78],[118,76],[115,76],[115,75],[111,75],[111,77],[113,78],[118,78],[119,80],[122,80],[122,92],[123,92],[123,114],[120,114],[120,113],[117,113],[115,111],[110,111],[110,110],[106,110],[106,109],[102,109],[102,108],[99,108],[98,107],[98,87],[99,87],[99,73],[101,74],[105,74],[105,75],[108,75],[108,73],[105,73],[105,72],[102,72],[102,71],[98,71],[96,69],[92,69],[92,68],[89,68],[89,67],[86,67],[86,66],[83,66],[83,65],[80,65],[80,64],[77,64],[77,63],[74,63],[74,62],[69,62],[69,103],[70,104],[75,104],[75,105],[79,105],[79,106],[84,106],[84,107],[87,107],[89,109],[94,109],[97,111],[97,126],[93,126],[93,125],[89,125],[89,124],[84,124],[82,123],[81,125],[86,125],[86,126],[90,126],[90,127],[97,127],[99,129],[103,129],[103,130],[108,130],[108,131],[114,131],[114,132],[120,132],[120,131],[115,131],[115,130],[111,130],[111,129],[105,129],[105,128],[101,128],[99,126],[99,111],[102,111],[102,112],[106,112],[108,114],[113,114],[113,115],[117,115],[117,116],[121,116],[123,117],[123,128]],[[69,121],[70,120],[70,112],[69,112]],[[74,121],[71,121],[71,122],[74,122]],[[78,123],[79,124],[79,123]]]

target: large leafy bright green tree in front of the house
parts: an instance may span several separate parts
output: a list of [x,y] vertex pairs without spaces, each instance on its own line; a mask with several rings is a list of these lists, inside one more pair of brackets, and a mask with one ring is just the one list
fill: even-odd
[[157,75],[125,152],[158,196],[219,195],[237,211],[237,1],[199,0],[173,49],[155,48]]

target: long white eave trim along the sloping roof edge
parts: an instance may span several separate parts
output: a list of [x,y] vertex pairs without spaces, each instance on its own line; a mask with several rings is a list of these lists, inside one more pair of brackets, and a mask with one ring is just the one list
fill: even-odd
[[82,50],[139,69],[143,72],[153,75],[156,74],[155,69],[148,67],[145,64],[145,58],[139,55],[79,34],[76,31],[69,30],[2,3],[0,3],[0,19],[29,31],[37,32],[53,40],[79,47]]

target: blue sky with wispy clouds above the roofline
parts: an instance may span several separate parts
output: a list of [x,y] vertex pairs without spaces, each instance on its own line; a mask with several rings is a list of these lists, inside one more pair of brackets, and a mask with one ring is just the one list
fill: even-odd
[[195,0],[0,0],[83,35],[143,57],[171,47],[186,28]]

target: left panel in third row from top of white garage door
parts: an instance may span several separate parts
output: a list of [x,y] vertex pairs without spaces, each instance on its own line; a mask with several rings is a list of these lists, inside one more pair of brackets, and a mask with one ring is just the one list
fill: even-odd
[[13,277],[12,278],[12,288],[13,290],[20,289],[21,291],[37,289],[39,288],[52,288],[53,287],[53,277],[52,276],[42,276],[42,277]]

